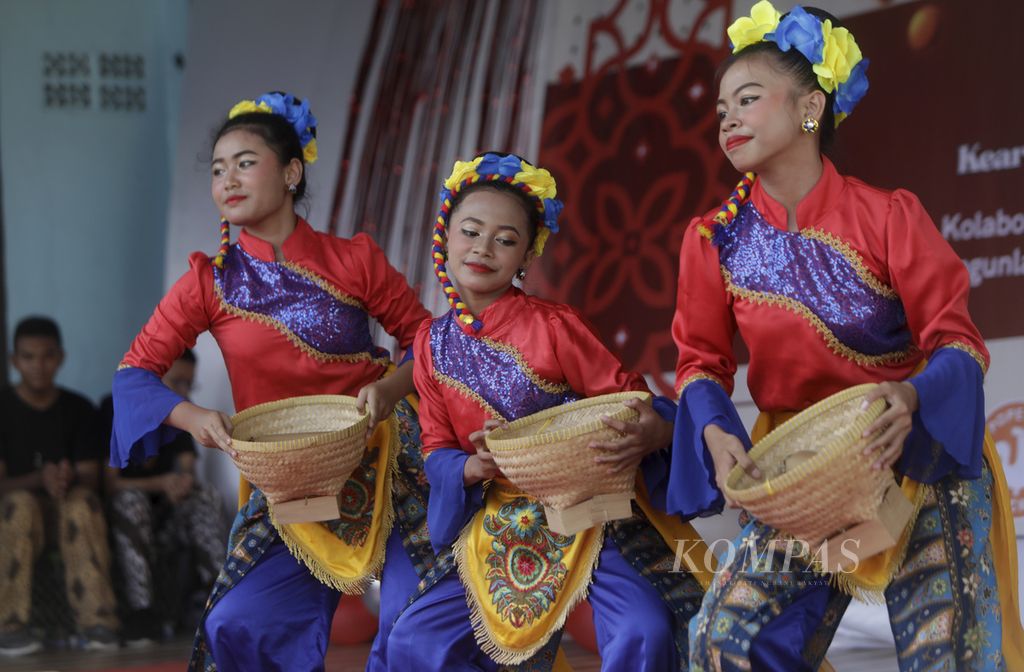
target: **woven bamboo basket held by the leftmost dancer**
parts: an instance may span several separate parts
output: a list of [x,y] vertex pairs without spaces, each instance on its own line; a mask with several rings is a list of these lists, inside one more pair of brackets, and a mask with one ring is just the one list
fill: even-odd
[[271,504],[336,497],[362,458],[369,423],[341,394],[260,404],[231,418],[234,464]]

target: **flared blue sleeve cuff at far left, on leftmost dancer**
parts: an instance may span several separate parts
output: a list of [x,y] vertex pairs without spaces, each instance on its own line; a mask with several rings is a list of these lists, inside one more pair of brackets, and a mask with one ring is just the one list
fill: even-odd
[[140,464],[174,440],[180,430],[164,420],[183,401],[152,371],[128,368],[114,374],[111,466]]

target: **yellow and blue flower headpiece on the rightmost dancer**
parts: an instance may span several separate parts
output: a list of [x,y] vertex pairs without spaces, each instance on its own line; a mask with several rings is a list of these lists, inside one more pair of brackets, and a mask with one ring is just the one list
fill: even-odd
[[754,5],[750,16],[734,20],[726,31],[732,52],[758,42],[774,42],[782,51],[796,49],[814,68],[818,84],[835,92],[836,125],[846,119],[867,92],[867,58],[853,35],[796,5],[784,16],[768,0]]

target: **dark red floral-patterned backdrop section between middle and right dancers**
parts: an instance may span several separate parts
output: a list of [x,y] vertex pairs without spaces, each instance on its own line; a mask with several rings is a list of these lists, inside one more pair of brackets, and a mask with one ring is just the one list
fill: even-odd
[[[526,285],[579,307],[628,369],[671,394],[663,374],[675,370],[669,325],[683,229],[736,177],[716,140],[715,69],[726,51],[697,39],[730,3],[706,3],[680,34],[671,3],[652,0],[632,40],[620,26],[628,4],[591,23],[585,72],[566,71],[548,88],[540,163],[558,179],[565,210]],[[598,62],[599,39],[616,48]],[[654,40],[678,55],[628,66]]]

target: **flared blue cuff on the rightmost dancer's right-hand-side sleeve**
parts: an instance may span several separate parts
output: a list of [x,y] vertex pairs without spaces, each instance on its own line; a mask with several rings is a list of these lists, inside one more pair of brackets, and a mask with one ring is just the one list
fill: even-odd
[[908,382],[918,390],[918,412],[896,468],[925,484],[949,474],[980,477],[985,391],[978,363],[956,348],[940,348]]

